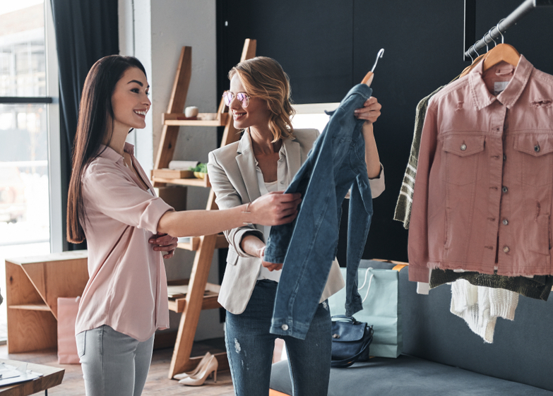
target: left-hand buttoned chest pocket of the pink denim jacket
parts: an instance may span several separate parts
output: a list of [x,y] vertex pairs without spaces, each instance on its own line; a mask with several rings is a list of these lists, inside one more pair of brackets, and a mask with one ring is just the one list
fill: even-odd
[[450,135],[444,138],[444,181],[464,186],[477,180],[479,153],[484,150],[484,136]]

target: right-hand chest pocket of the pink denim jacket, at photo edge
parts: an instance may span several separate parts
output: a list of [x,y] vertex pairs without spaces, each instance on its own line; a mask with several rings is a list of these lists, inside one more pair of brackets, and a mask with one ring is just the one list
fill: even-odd
[[553,133],[518,135],[513,148],[520,153],[523,184],[547,186],[553,183]]

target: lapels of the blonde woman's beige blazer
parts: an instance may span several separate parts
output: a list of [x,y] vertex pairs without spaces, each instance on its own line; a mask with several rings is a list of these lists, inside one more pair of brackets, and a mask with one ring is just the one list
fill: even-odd
[[[299,143],[295,139],[283,139],[283,148],[288,177],[292,181],[299,167],[302,166]],[[248,191],[250,201],[259,198],[261,192],[259,191],[257,180],[256,157],[254,155],[254,148],[251,145],[251,136],[247,130],[244,131],[242,138],[238,142],[236,162],[242,174],[242,179],[244,179],[244,185]]]

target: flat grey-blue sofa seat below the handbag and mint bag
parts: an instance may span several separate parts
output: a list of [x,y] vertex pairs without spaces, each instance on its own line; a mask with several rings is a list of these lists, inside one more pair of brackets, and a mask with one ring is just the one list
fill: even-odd
[[[292,395],[287,361],[273,364],[270,388]],[[331,368],[328,396],[552,396],[553,392],[473,373],[415,356],[375,357],[348,368]],[[319,395],[317,395],[319,396]]]

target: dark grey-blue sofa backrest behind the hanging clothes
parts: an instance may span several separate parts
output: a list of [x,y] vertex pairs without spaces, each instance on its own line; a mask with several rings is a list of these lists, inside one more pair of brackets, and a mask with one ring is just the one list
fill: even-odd
[[399,287],[403,353],[553,390],[553,296],[549,301],[521,296],[515,319],[499,318],[494,342],[487,344],[449,312],[450,285],[417,294],[406,267],[400,271]]

